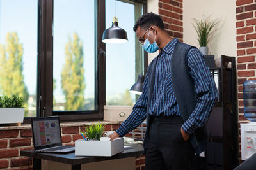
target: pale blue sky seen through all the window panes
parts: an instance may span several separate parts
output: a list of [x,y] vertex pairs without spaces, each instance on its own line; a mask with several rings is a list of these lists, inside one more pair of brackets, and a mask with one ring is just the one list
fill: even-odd
[[[115,15],[115,1],[106,0],[106,28],[111,27]],[[5,44],[7,32],[18,33],[24,48],[24,81],[29,94],[36,92],[37,64],[37,1],[0,0],[0,43]],[[107,96],[124,92],[135,82],[135,34],[134,6],[116,1],[116,17],[119,27],[127,31],[128,43],[106,45],[106,92]],[[53,25],[53,64],[56,90],[54,96],[61,96],[61,70],[65,64],[65,43],[68,36],[76,32],[83,41],[84,77],[86,96],[94,94],[95,53],[94,0],[55,0]]]

